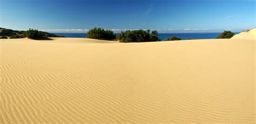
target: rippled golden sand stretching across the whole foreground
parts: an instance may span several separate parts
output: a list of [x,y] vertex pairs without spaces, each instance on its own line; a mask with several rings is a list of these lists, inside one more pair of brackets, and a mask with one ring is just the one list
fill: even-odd
[[53,39],[0,40],[0,123],[255,123],[253,39]]

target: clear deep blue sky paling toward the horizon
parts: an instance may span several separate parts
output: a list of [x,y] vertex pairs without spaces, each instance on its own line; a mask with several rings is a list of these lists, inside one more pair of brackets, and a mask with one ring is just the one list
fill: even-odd
[[48,32],[239,31],[255,27],[256,0],[0,0],[0,27]]

